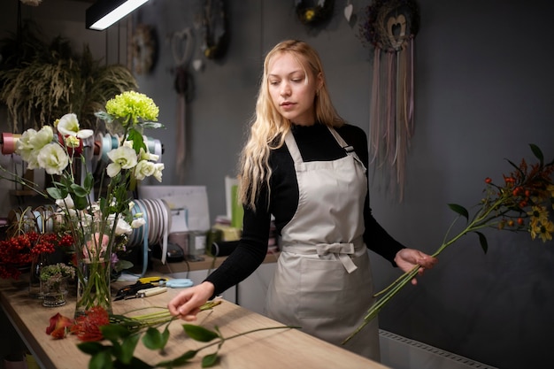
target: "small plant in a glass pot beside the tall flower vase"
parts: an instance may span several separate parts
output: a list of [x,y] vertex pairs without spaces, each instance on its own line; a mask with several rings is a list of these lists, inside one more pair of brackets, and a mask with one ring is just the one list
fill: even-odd
[[42,306],[58,307],[65,305],[67,281],[75,278],[75,268],[64,263],[46,265],[41,270],[43,291]]

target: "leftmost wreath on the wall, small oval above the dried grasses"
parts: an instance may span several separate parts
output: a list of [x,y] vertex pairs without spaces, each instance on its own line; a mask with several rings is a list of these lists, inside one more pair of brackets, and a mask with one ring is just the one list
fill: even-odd
[[137,74],[148,74],[156,64],[158,42],[156,31],[149,25],[138,25],[132,39],[133,65]]

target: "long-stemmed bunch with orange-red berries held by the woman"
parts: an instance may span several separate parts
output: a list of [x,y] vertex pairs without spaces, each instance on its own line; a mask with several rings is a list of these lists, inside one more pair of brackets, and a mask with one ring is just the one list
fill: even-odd
[[[504,183],[496,184],[492,179],[486,178],[485,195],[476,205],[476,211],[471,218],[470,212],[464,206],[449,204],[450,209],[458,213],[458,217],[450,225],[441,247],[435,251],[433,257],[438,257],[443,250],[470,233],[478,235],[481,248],[486,253],[489,244],[487,237],[481,232],[485,228],[523,231],[528,232],[532,240],[537,238],[542,242],[552,240],[554,223],[550,219],[550,211],[554,209],[554,182],[551,177],[554,172],[554,160],[544,163],[542,150],[535,144],[529,146],[538,162],[528,165],[527,161],[522,159],[520,164],[516,165],[508,160],[514,170],[508,175],[503,175]],[[466,219],[466,227],[448,239],[450,230],[460,218]],[[412,281],[418,272],[419,265],[377,293],[375,296],[379,298],[367,311],[362,324],[342,343],[349,342],[373,320],[390,299],[396,296],[409,281]]]

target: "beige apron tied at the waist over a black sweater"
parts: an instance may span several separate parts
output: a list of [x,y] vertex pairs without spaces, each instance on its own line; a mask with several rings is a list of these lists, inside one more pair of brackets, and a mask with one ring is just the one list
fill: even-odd
[[[335,140],[342,140],[329,128]],[[363,241],[365,166],[352,148],[335,161],[304,163],[292,134],[298,207],[281,232],[281,257],[266,300],[267,315],[341,345],[373,304],[373,279]],[[379,361],[377,319],[342,346]]]

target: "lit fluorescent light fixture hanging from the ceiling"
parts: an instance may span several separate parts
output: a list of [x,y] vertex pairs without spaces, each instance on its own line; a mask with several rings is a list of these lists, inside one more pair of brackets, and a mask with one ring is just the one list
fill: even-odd
[[146,2],[148,0],[97,0],[87,9],[87,28],[102,31]]

